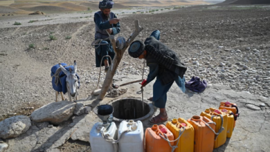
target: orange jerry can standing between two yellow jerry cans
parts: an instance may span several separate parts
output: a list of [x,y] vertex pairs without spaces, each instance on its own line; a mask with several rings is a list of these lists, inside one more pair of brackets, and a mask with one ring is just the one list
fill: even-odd
[[215,122],[207,117],[193,115],[188,122],[195,130],[194,152],[212,152],[215,139]]

